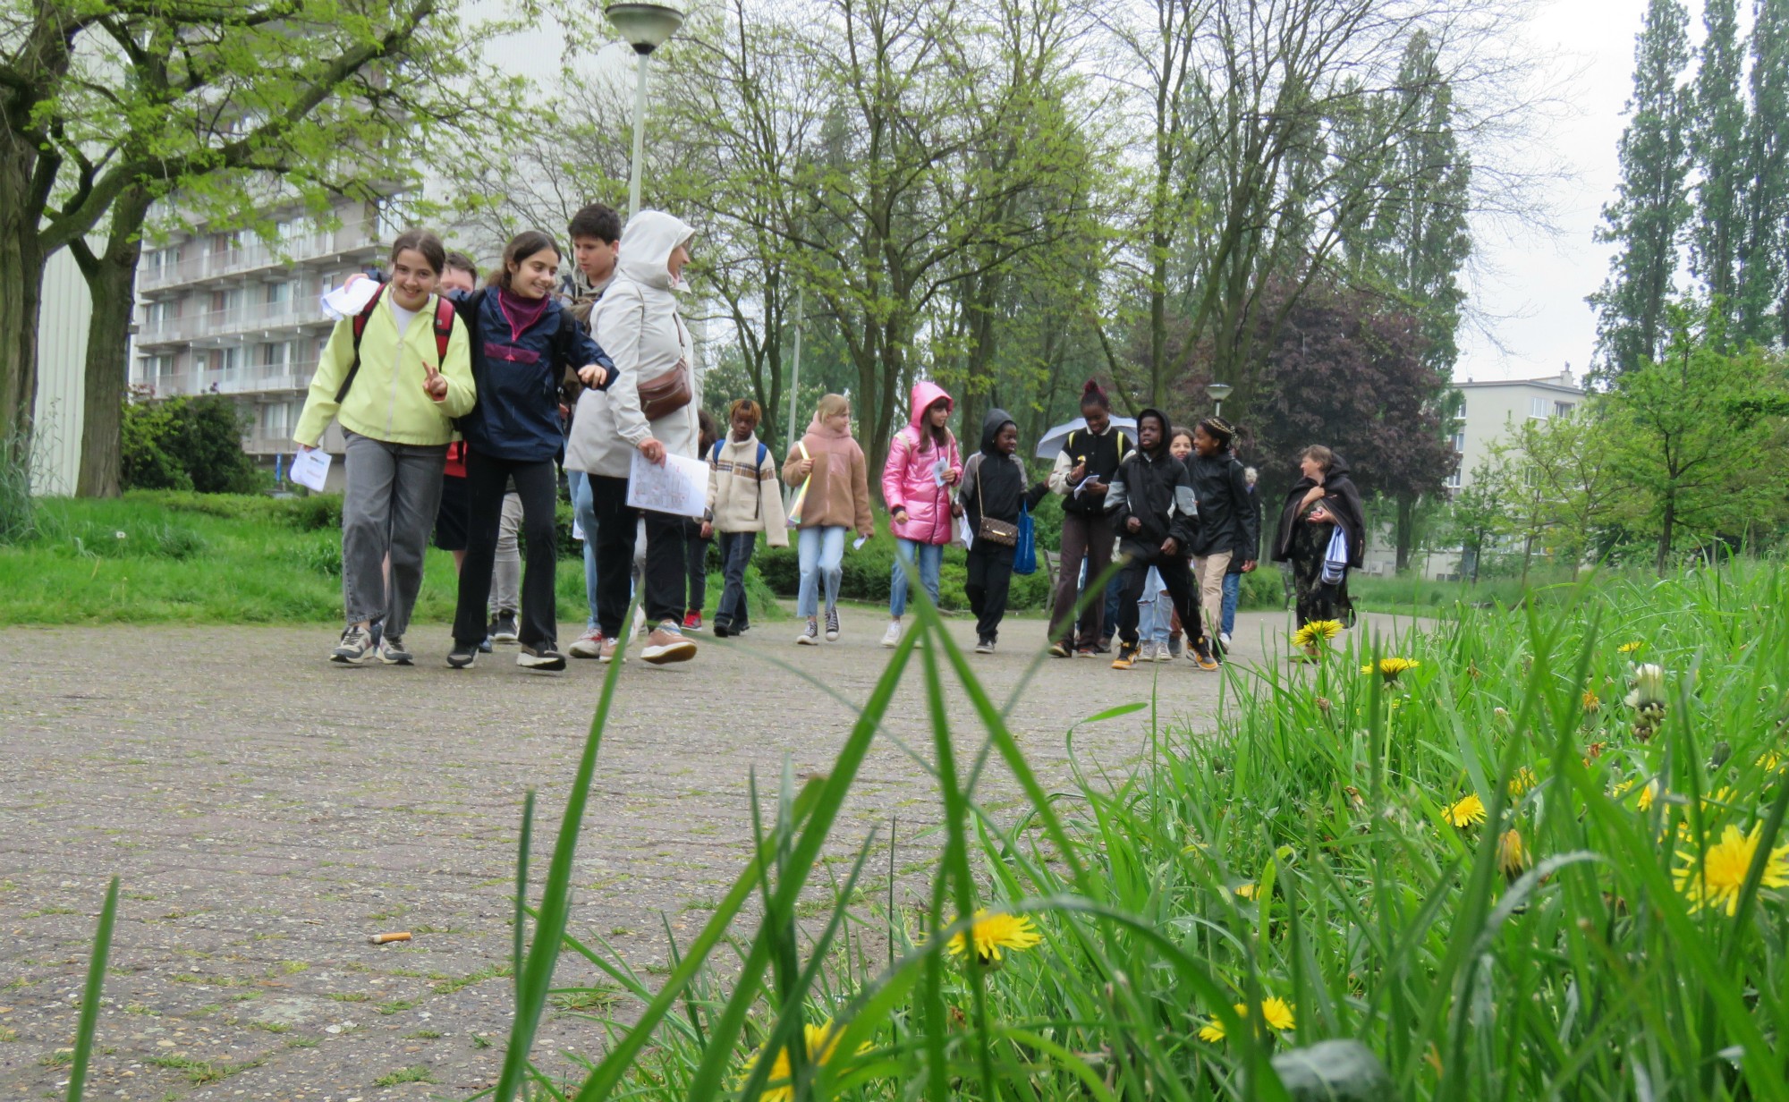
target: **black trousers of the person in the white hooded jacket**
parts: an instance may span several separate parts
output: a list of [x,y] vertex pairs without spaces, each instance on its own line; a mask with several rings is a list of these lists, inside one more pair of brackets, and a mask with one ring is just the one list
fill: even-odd
[[628,479],[590,476],[596,504],[596,624],[606,639],[621,639],[621,617],[628,614],[628,578],[633,569],[633,542],[639,519],[646,519],[646,592],[640,605],[646,621],[683,623],[685,549],[683,521],[669,513],[651,513],[628,506]]

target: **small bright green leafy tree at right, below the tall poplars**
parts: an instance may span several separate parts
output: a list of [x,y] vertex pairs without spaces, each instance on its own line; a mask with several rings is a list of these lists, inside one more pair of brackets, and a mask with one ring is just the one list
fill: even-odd
[[1657,540],[1664,574],[1683,540],[1744,535],[1778,519],[1784,496],[1784,365],[1730,352],[1717,313],[1667,309],[1669,343],[1615,379],[1603,399],[1617,515]]

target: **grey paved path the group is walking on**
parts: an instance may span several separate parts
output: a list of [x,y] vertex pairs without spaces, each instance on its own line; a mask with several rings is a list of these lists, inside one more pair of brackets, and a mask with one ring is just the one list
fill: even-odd
[[[1240,662],[1283,623],[1245,614]],[[664,923],[691,936],[742,866],[748,771],[771,789],[785,755],[798,773],[823,771],[850,728],[846,708],[767,658],[862,701],[887,657],[880,628],[855,612],[846,637],[818,649],[791,646],[794,626],[778,623],[707,639],[683,665],[630,662],[578,848],[572,934],[662,968]],[[973,642],[970,624],[954,632]],[[971,655],[996,699],[1030,662],[1018,644],[1041,635],[1014,621],[1007,651]],[[0,1102],[61,1097],[59,1050],[114,873],[89,1098],[370,1102],[467,1097],[492,1081],[522,793],[538,785],[537,837],[551,839],[599,667],[531,674],[499,651],[456,673],[437,628],[411,633],[426,655],[415,669],[351,669],[322,658],[329,642],[284,628],[0,632]],[[1066,775],[1064,730],[1147,699],[1149,669],[1039,669],[1011,725],[1047,780]],[[1165,712],[1209,723],[1218,676],[1184,660],[1159,676]],[[911,674],[887,732],[925,753],[921,691]],[[1075,751],[1122,766],[1145,725],[1091,725]],[[964,723],[959,739],[973,746],[979,732]],[[989,800],[1011,789],[1004,771],[989,785]],[[882,739],[835,837],[861,841],[894,814],[909,835],[934,803],[923,769]],[[369,945],[381,930],[415,941]],[[560,982],[592,977],[564,959]],[[564,1066],[555,1050],[599,1047],[599,1025],[558,1013],[538,1054]],[[431,1082],[379,1086],[404,1070]]]

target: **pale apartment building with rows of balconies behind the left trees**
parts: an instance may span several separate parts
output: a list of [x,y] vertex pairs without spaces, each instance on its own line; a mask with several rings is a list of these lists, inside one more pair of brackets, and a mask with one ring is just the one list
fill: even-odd
[[[227,394],[250,417],[243,449],[272,463],[292,451],[304,390],[333,322],[317,299],[383,259],[379,204],[347,204],[326,229],[293,211],[277,245],[252,233],[177,233],[145,250],[136,274],[138,331],[131,385],[154,397]],[[340,451],[340,429],[324,445]]]

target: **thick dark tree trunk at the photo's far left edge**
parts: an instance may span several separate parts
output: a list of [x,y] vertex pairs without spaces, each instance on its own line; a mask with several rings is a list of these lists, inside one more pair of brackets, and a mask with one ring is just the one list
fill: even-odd
[[0,152],[0,463],[30,462],[38,403],[38,306],[43,299],[41,208],[30,202],[36,150]]

